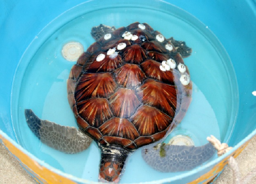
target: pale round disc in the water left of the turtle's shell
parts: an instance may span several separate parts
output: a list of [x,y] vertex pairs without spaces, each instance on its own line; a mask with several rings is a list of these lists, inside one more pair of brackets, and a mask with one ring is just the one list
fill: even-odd
[[68,42],[62,48],[62,57],[67,61],[77,61],[83,53],[83,45],[79,42]]

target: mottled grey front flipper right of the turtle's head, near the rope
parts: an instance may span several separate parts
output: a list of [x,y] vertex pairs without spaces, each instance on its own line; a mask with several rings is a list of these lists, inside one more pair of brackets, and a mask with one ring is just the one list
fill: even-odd
[[215,153],[213,146],[178,146],[157,144],[142,150],[142,158],[148,165],[161,172],[192,170],[209,160]]

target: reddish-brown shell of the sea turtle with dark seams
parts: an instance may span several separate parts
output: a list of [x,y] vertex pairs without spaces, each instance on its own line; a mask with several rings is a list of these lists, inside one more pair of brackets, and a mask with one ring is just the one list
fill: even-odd
[[[168,59],[175,68],[161,70]],[[146,23],[100,38],[81,55],[67,81],[79,127],[99,145],[119,144],[131,151],[162,139],[191,101],[192,83],[180,82],[179,64],[189,76],[172,43]]]

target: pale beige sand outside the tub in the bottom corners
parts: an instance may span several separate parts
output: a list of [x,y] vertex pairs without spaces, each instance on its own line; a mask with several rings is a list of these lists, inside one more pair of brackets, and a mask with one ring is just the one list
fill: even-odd
[[[256,167],[256,137],[251,140],[236,160],[241,177]],[[0,184],[36,184],[35,180],[26,173],[2,144],[0,144]],[[232,184],[232,171],[229,167],[225,167],[214,184]],[[249,184],[256,184],[256,176],[251,179]]]

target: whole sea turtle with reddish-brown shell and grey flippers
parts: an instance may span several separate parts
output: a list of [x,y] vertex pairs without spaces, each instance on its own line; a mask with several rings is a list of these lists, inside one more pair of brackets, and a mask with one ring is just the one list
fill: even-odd
[[[91,34],[96,42],[79,57],[67,80],[79,130],[41,120],[30,109],[25,109],[25,116],[34,134],[60,151],[77,153],[90,145],[91,138],[95,140],[101,150],[99,180],[119,182],[127,156],[159,142],[185,116],[192,82],[183,57],[192,50],[146,23],[118,29],[100,24]],[[164,156],[159,156],[159,149]],[[143,157],[159,170],[170,165],[171,169],[162,169],[169,172],[201,164],[205,159],[200,153],[209,155],[209,150],[209,145],[154,144],[144,149]],[[180,169],[177,157],[186,166]],[[165,166],[156,164],[163,162]]]

